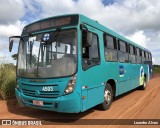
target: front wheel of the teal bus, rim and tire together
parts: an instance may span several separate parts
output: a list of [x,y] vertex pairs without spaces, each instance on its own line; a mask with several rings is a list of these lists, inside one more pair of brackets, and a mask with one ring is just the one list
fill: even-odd
[[110,108],[113,101],[113,89],[110,84],[107,83],[104,90],[104,102],[101,103],[98,107],[101,110],[107,110]]

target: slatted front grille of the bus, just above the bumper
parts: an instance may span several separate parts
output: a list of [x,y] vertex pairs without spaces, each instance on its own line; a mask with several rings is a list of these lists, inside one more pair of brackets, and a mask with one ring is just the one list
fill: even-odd
[[56,98],[59,95],[59,91],[52,91],[52,92],[39,91],[38,95],[36,95],[36,91],[34,90],[22,89],[22,92],[26,96],[33,96],[40,98]]

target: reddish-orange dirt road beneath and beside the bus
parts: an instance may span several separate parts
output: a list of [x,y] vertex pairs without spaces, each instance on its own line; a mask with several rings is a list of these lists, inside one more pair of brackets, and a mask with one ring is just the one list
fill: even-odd
[[[20,108],[16,101],[0,101],[1,119],[160,119],[160,76],[154,77],[145,91],[133,90],[125,95],[119,96],[107,111],[91,109],[79,114],[64,114],[43,111],[31,108]],[[17,127],[17,126],[13,126]],[[26,126],[29,127],[29,126]],[[38,126],[39,127],[39,126]],[[43,126],[44,127],[44,126]],[[46,127],[84,127],[81,125],[54,125]],[[90,128],[91,126],[85,126]],[[94,127],[127,128],[128,126],[95,125]],[[135,127],[135,125],[130,126]],[[136,127],[141,127],[137,125]],[[143,126],[150,128],[150,125]],[[160,128],[160,125],[152,127]]]

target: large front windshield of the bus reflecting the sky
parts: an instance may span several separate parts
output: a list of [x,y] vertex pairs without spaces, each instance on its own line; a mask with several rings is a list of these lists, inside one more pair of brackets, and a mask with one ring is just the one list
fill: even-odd
[[76,30],[40,33],[21,38],[17,67],[19,77],[64,77],[73,75],[76,70]]

